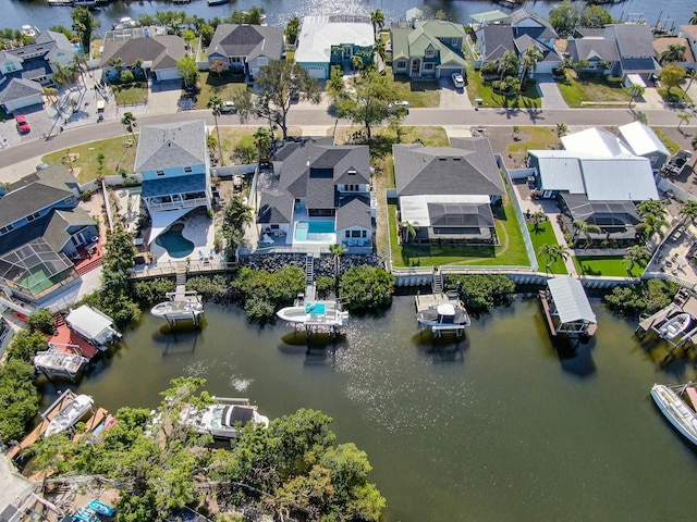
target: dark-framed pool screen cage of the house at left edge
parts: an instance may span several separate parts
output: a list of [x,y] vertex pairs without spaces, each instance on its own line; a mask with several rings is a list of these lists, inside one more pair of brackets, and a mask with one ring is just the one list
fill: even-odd
[[71,276],[73,263],[42,238],[0,257],[0,277],[23,294],[38,296]]

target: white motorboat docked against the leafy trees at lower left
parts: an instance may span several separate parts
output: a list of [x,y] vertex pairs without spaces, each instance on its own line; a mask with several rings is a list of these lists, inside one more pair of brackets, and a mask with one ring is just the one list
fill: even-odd
[[213,397],[215,405],[205,409],[184,408],[180,415],[182,423],[203,435],[218,438],[235,438],[240,426],[253,422],[269,427],[269,418],[259,414],[249,399]]

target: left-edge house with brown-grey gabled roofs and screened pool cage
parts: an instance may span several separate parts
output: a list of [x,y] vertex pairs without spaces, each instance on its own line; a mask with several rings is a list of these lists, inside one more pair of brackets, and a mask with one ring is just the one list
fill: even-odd
[[71,259],[96,243],[97,224],[77,207],[77,181],[54,164],[23,177],[0,198],[0,286],[41,302],[80,276]]

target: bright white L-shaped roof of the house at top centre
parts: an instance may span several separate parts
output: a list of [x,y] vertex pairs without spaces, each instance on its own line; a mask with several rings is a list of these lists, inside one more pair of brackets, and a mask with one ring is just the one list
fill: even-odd
[[331,46],[375,45],[372,25],[365,22],[330,22],[330,16],[305,16],[295,50],[296,62],[329,62]]

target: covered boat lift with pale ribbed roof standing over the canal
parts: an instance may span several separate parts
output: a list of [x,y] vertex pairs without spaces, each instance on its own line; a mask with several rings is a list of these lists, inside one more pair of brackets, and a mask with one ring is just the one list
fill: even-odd
[[598,327],[596,314],[580,281],[554,277],[540,290],[545,316],[553,336],[592,337]]

